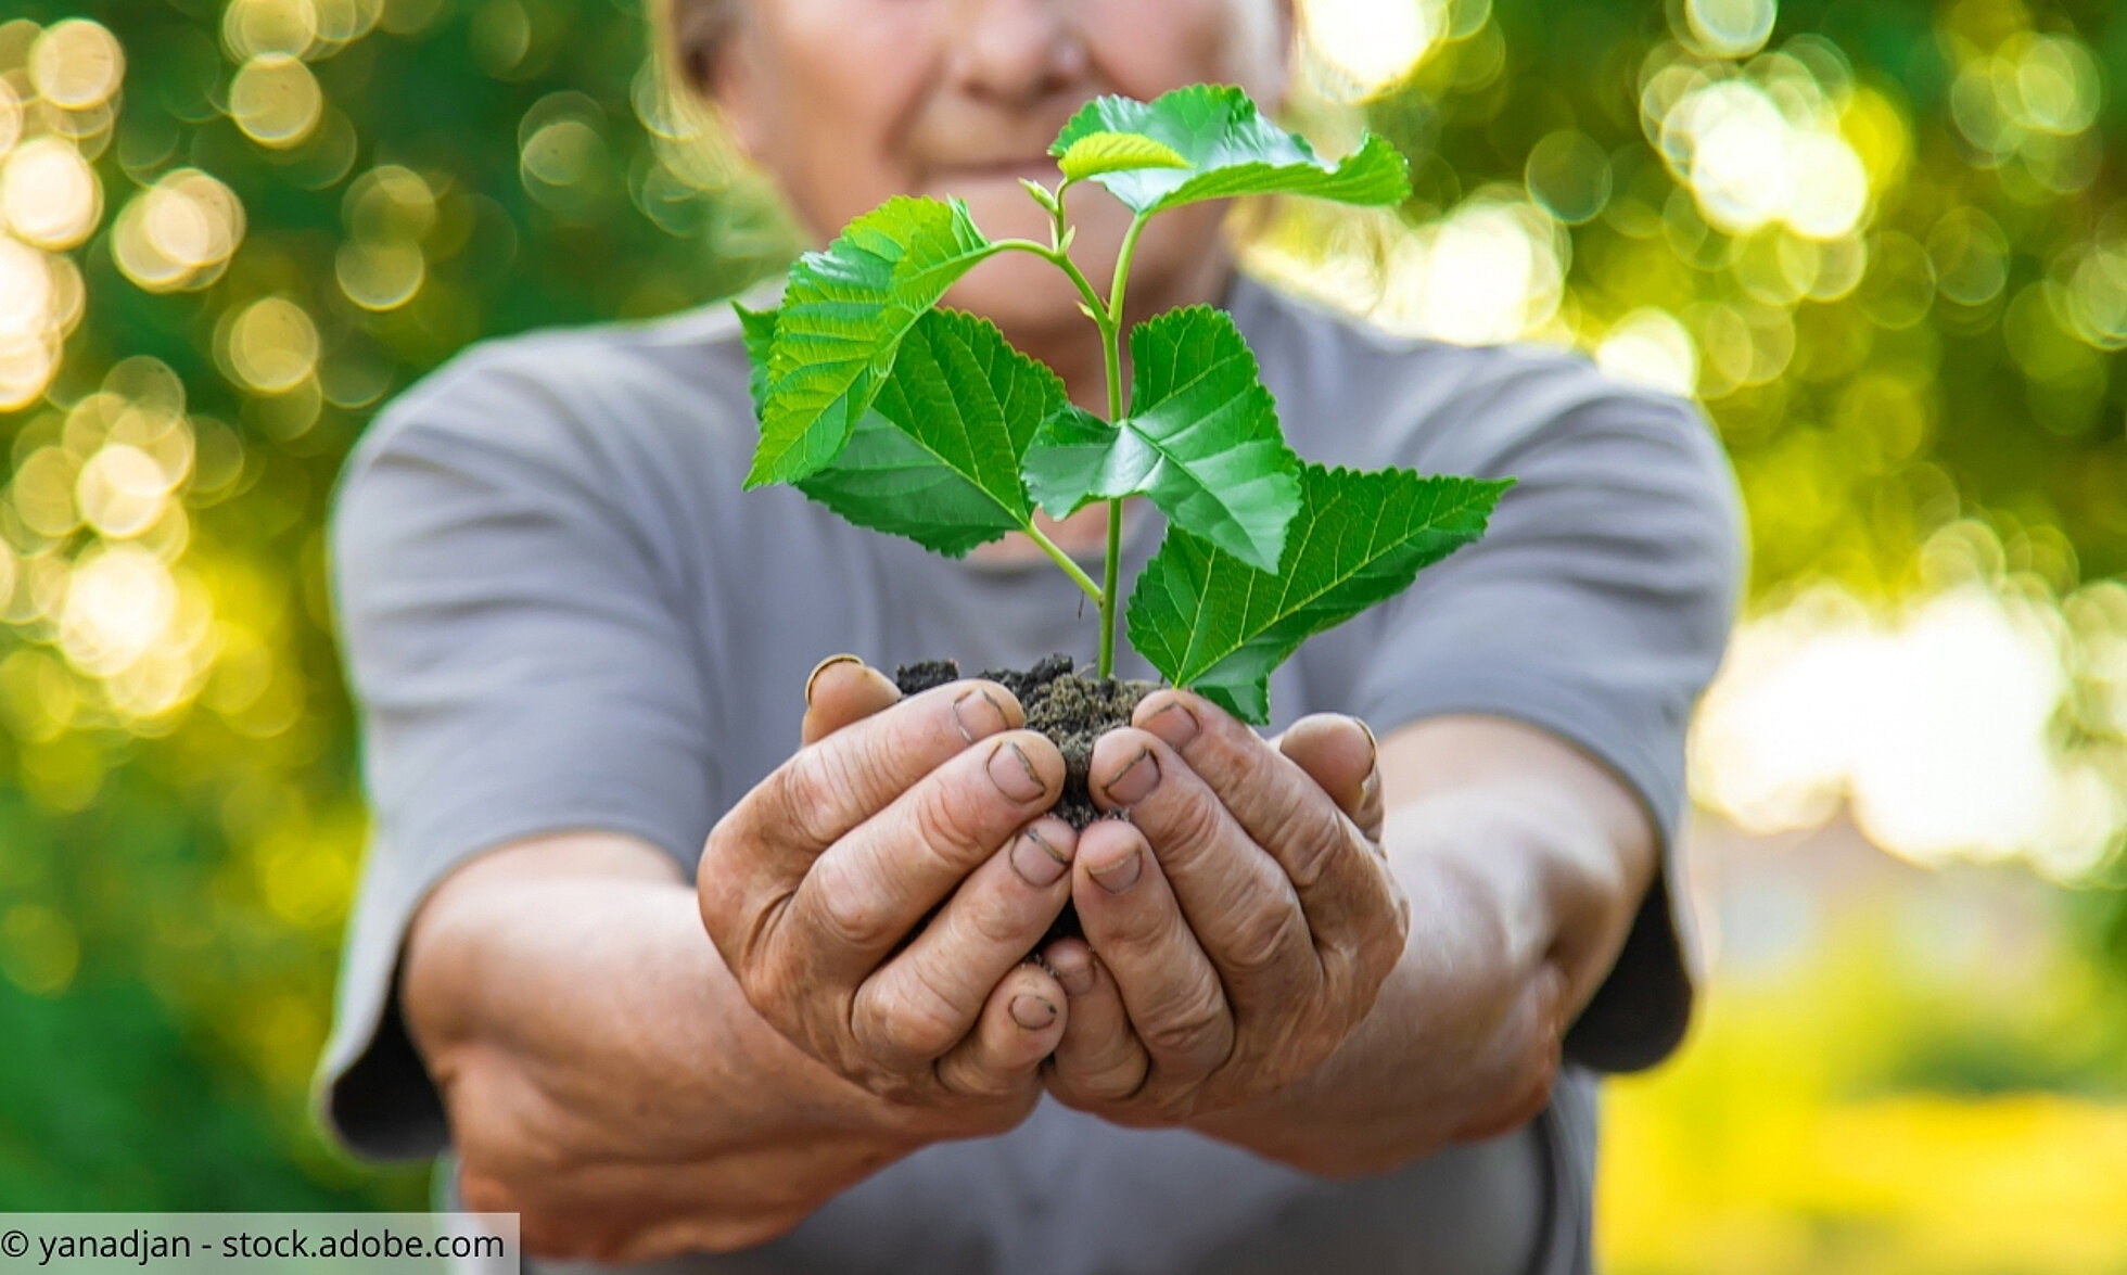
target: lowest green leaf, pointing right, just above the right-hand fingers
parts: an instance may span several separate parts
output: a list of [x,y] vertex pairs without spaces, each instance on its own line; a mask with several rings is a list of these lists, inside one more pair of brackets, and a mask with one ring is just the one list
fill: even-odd
[[1129,594],[1129,645],[1174,685],[1270,722],[1270,670],[1485,534],[1506,481],[1304,466],[1278,573],[1170,528]]

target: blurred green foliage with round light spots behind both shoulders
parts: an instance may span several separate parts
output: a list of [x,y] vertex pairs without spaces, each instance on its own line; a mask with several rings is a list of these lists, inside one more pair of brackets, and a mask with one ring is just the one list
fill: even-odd
[[[1470,336],[1410,245],[1519,234],[1525,294],[1476,334],[1682,375],[1759,590],[1895,592],[1959,517],[2055,592],[2127,568],[2127,13],[1791,0],[1723,49],[1682,0],[1421,9],[1408,74],[1317,74],[1412,204],[1295,215],[1266,260]],[[6,15],[0,1207],[419,1207],[423,1171],[345,1164],[306,1111],[364,837],[336,468],[466,343],[725,296],[791,232],[659,98],[634,0]],[[1719,166],[1731,117],[1793,189],[1774,151]],[[1859,177],[1808,162],[1840,145]]]

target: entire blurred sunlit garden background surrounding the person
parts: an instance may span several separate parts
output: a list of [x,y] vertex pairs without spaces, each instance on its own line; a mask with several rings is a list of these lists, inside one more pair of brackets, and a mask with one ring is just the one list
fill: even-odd
[[[1412,160],[1257,270],[1695,394],[1755,579],[1691,741],[1712,988],[1612,1086],[1619,1273],[2127,1271],[2127,13],[1312,0]],[[364,813],[319,521],[466,343],[781,266],[640,0],[0,19],[0,1205],[419,1207],[321,1141]]]

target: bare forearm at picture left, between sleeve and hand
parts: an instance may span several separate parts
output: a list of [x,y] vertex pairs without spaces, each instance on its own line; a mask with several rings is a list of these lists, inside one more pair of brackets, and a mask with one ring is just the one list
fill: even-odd
[[676,868],[510,868],[423,907],[404,1005],[468,1205],[527,1245],[757,1243],[925,1141],[753,1013]]

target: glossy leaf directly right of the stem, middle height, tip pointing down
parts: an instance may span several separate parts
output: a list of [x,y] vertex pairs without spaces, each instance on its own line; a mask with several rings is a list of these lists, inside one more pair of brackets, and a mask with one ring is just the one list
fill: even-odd
[[1185,532],[1274,570],[1300,509],[1300,458],[1240,328],[1210,307],[1168,311],[1132,330],[1129,360],[1129,417],[1051,417],[1027,453],[1027,490],[1057,517],[1142,492]]

